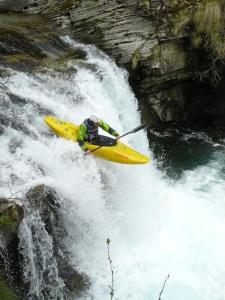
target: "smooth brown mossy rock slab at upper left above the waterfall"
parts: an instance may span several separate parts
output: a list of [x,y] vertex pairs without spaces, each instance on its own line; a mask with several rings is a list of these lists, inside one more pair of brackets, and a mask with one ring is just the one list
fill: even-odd
[[32,72],[85,57],[81,50],[65,44],[55,25],[43,16],[2,13],[0,38],[0,64],[13,69]]

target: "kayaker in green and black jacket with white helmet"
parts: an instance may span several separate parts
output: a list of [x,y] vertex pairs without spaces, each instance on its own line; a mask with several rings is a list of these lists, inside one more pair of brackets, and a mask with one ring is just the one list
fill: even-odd
[[107,138],[98,134],[98,127],[101,127],[104,131],[108,132],[112,136],[115,136],[116,140],[120,138],[120,135],[116,130],[114,130],[97,116],[92,115],[88,119],[84,120],[84,122],[80,125],[78,132],[77,142],[85,151],[85,154],[91,153],[91,150],[88,150],[85,146],[85,142],[101,146],[104,143],[103,138]]

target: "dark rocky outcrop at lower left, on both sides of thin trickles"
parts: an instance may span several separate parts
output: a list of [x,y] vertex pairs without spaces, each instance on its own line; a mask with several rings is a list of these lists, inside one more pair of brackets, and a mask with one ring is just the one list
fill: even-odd
[[[31,188],[26,197],[31,208],[38,211],[46,231],[51,236],[58,275],[65,284],[65,299],[81,296],[89,287],[90,282],[85,274],[80,274],[70,263],[69,254],[64,245],[67,232],[63,226],[60,202],[56,192],[50,187],[39,185]],[[19,252],[17,235],[17,229],[23,217],[24,209],[16,201],[0,199],[0,291],[1,283],[4,285],[6,283],[24,297],[28,287],[23,280],[21,269],[23,258]],[[38,253],[36,255],[38,259]],[[43,276],[48,278],[50,275],[43,274]]]

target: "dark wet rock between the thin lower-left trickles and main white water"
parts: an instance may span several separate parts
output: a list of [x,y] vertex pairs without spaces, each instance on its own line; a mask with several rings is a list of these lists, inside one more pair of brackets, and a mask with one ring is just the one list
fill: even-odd
[[59,276],[65,283],[66,299],[81,295],[88,288],[89,280],[80,274],[69,262],[64,237],[67,235],[60,215],[60,202],[56,192],[45,185],[36,186],[27,193],[31,206],[39,211],[48,234],[52,237],[53,251],[58,264]]

